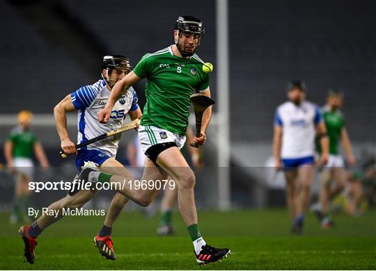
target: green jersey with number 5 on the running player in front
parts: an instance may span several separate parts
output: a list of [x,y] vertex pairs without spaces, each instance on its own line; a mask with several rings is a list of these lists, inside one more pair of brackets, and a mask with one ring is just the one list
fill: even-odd
[[174,56],[171,47],[146,54],[134,67],[140,78],[147,78],[146,104],[141,125],[157,126],[184,135],[188,125],[189,96],[194,90],[209,88],[209,74],[196,54],[188,59]]

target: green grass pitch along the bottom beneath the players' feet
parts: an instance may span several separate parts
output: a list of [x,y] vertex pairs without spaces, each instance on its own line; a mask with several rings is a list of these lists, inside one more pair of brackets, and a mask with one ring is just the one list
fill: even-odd
[[23,263],[18,227],[0,213],[1,270],[187,270],[187,269],[310,269],[375,270],[376,212],[363,217],[335,217],[337,227],[320,229],[308,215],[302,236],[291,236],[283,210],[201,212],[200,228],[205,240],[233,253],[222,263],[203,268],[194,261],[193,247],[180,215],[174,213],[176,236],[155,237],[157,217],[123,213],[113,230],[116,261],[102,258],[91,245],[103,217],[65,217],[38,238],[36,263]]

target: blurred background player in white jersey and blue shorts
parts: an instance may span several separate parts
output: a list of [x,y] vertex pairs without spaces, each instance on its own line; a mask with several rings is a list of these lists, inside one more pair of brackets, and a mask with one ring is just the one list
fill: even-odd
[[322,145],[321,163],[327,163],[329,141],[320,109],[304,101],[305,85],[292,81],[288,85],[288,99],[276,109],[274,119],[274,161],[276,169],[285,170],[286,198],[292,233],[301,233],[304,213],[308,208],[315,165],[315,136]]

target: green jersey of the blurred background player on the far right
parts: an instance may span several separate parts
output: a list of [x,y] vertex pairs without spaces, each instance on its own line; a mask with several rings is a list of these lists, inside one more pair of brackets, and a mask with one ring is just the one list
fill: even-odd
[[[340,133],[343,127],[345,127],[345,119],[340,110],[331,111],[329,106],[322,108],[322,117],[324,118],[325,126],[327,126],[329,136],[329,154],[337,155]],[[321,152],[321,149],[318,149]]]

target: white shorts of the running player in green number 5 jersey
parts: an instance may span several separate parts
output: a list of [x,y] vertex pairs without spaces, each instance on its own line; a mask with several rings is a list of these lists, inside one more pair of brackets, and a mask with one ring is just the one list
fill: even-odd
[[181,149],[185,143],[185,136],[180,136],[178,133],[171,133],[156,126],[139,126],[139,140],[143,153],[159,143],[174,142],[176,146]]

